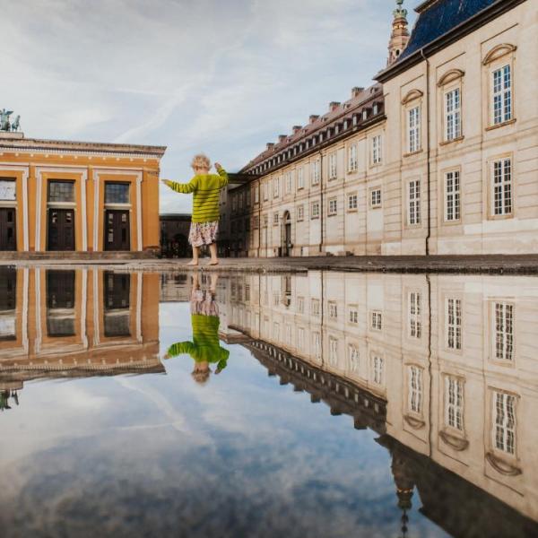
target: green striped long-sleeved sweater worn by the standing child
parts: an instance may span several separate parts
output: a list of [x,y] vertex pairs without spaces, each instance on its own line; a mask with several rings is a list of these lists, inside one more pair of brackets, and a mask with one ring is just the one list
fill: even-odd
[[188,183],[176,183],[169,181],[167,185],[177,193],[188,195],[194,193],[193,222],[218,221],[219,194],[221,188],[228,185],[226,170],[220,169],[217,174],[200,174],[192,178]]

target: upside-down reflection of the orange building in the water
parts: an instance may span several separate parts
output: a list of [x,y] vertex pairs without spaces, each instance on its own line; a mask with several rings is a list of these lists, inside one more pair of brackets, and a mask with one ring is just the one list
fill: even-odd
[[159,275],[0,268],[0,407],[25,381],[161,373]]

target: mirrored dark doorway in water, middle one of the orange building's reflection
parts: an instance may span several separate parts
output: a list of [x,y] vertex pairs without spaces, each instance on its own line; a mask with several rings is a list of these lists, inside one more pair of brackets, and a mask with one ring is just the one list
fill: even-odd
[[47,271],[47,334],[74,336],[74,271]]

